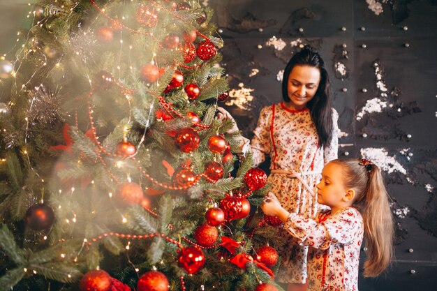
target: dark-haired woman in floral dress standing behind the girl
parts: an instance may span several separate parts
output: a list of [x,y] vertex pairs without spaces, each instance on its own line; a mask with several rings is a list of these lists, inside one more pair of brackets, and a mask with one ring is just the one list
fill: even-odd
[[[251,140],[254,164],[259,165],[269,155],[268,182],[282,207],[314,218],[318,211],[314,191],[323,165],[337,158],[339,128],[338,114],[329,101],[324,61],[311,47],[304,47],[288,62],[282,97],[283,102],[260,112]],[[223,108],[218,111],[218,118],[232,119]],[[238,130],[237,126],[233,130]],[[244,148],[249,140],[242,143]],[[289,237],[283,230],[280,235]],[[307,251],[307,246],[296,246],[292,241],[278,248],[282,264],[276,278],[289,283],[288,291],[305,290]]]

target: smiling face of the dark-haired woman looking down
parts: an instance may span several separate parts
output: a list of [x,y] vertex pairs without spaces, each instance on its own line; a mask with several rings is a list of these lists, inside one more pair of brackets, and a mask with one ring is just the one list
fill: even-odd
[[288,75],[288,105],[295,110],[306,108],[320,83],[320,70],[312,66],[294,66]]

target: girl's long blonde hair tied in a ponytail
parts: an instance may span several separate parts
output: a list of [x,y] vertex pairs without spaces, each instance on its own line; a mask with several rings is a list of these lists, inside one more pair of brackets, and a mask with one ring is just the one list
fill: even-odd
[[343,166],[345,186],[354,189],[354,205],[364,220],[367,259],[363,275],[376,277],[384,271],[394,253],[393,216],[383,176],[369,161],[341,159],[332,163]]

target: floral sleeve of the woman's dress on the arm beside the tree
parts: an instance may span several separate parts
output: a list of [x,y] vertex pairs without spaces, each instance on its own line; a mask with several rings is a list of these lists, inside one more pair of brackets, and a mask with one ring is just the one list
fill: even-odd
[[260,117],[258,118],[258,125],[253,133],[251,140],[251,152],[253,154],[253,165],[260,165],[265,161],[265,155],[270,154],[272,150],[272,140],[270,139],[270,124],[272,117],[272,106],[262,108]]

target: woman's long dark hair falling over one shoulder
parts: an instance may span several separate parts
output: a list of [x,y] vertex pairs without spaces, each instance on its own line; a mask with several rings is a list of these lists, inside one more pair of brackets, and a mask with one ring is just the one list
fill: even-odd
[[313,99],[307,103],[311,119],[316,125],[319,145],[327,146],[332,140],[332,130],[334,128],[332,121],[332,107],[329,100],[329,76],[325,69],[325,62],[320,54],[309,45],[295,54],[283,72],[282,80],[282,98],[286,102],[290,101],[288,97],[288,77],[295,66],[311,66],[320,70],[320,84]]

